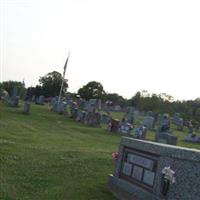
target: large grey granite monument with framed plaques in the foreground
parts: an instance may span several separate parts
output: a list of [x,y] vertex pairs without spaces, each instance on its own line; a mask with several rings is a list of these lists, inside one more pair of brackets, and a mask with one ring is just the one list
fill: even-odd
[[197,200],[200,151],[122,137],[108,186],[119,200]]

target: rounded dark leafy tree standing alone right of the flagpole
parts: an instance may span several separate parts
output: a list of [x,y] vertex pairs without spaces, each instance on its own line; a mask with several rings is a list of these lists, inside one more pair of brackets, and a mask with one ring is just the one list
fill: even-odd
[[91,81],[84,85],[82,88],[78,90],[78,94],[81,98],[89,100],[89,99],[101,99],[105,98],[105,91],[101,83],[96,81]]

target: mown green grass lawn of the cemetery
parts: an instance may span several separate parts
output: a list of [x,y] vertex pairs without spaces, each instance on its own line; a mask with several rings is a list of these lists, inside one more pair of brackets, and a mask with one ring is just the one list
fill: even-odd
[[[114,200],[107,178],[120,136],[31,106],[23,115],[0,102],[0,199]],[[200,149],[183,141],[186,132],[175,132],[178,145]]]

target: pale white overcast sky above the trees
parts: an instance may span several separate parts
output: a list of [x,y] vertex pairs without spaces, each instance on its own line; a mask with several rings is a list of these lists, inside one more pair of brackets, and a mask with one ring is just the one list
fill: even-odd
[[0,0],[0,81],[63,73],[125,98],[200,97],[199,0]]

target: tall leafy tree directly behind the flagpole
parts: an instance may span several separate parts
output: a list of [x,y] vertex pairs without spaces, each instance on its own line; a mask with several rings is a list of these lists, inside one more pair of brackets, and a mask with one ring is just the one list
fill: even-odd
[[[40,77],[39,83],[41,84],[43,94],[46,97],[58,96],[62,84],[62,75],[57,71],[50,72],[45,76]],[[67,80],[65,79],[63,83],[62,94],[67,92],[67,88],[68,84]]]

